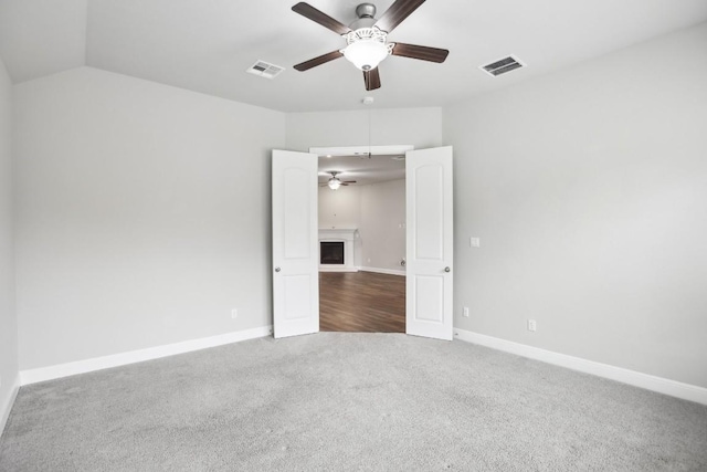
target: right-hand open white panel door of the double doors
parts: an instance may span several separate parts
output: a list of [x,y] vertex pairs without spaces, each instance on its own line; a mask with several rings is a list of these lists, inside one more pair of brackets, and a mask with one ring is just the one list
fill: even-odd
[[452,147],[405,153],[405,331],[452,340]]

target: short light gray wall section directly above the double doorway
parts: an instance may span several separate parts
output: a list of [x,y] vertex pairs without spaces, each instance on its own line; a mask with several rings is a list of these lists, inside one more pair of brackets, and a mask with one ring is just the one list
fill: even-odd
[[442,108],[287,114],[287,149],[368,144],[413,145],[415,149],[442,146]]

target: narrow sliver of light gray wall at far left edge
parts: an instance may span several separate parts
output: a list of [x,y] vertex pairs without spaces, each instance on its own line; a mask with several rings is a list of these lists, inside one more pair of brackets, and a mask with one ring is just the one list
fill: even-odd
[[19,382],[11,135],[12,84],[0,60],[0,434]]

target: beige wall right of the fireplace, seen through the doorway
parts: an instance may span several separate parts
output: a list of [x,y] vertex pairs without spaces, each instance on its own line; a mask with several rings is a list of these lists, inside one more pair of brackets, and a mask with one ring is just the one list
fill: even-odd
[[361,187],[361,265],[404,271],[405,180]]

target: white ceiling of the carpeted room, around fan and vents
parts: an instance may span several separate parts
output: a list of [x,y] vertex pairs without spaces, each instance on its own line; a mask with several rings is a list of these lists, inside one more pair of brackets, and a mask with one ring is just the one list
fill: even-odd
[[[296,63],[342,48],[291,11],[296,0],[0,0],[0,56],[15,83],[81,65],[284,112],[443,106],[707,21],[705,0],[428,0],[390,41],[444,48],[444,64],[388,57],[367,93],[346,60],[308,72]],[[359,0],[310,0],[344,23]],[[392,0],[374,2],[379,15]],[[502,77],[479,65],[514,54]],[[287,67],[246,74],[256,60]],[[610,71],[608,71],[608,77]]]

